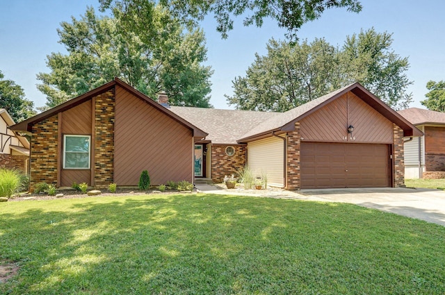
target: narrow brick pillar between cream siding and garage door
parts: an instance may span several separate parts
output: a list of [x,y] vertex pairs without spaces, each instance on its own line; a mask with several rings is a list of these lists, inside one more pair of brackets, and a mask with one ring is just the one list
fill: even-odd
[[286,189],[300,189],[300,122],[287,136],[287,184]]

